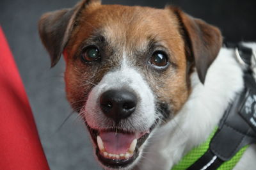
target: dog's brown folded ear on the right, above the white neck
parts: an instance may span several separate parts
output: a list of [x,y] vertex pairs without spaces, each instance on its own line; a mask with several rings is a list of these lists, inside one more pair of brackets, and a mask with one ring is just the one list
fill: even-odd
[[204,84],[207,70],[221,49],[222,36],[220,29],[207,24],[203,20],[195,19],[178,8],[169,8],[180,21],[181,33],[190,50],[188,59],[195,61],[198,77]]

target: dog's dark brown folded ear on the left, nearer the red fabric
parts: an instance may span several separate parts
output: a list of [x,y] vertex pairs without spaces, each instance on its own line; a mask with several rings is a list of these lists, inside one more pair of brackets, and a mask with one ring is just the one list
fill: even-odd
[[81,10],[90,3],[100,3],[100,0],[83,0],[74,8],[58,10],[42,15],[39,20],[38,29],[40,38],[51,56],[51,66],[60,60],[61,53],[67,45],[77,18]]

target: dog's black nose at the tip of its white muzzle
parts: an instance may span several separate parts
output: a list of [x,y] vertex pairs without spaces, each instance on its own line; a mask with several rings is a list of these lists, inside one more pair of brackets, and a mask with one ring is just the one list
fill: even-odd
[[100,97],[100,107],[104,114],[118,121],[131,116],[135,111],[137,98],[134,93],[125,90],[109,90]]

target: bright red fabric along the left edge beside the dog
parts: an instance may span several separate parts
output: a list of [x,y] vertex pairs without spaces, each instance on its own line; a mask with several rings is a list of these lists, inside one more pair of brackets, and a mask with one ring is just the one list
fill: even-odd
[[1,27],[0,169],[49,169],[24,86]]

